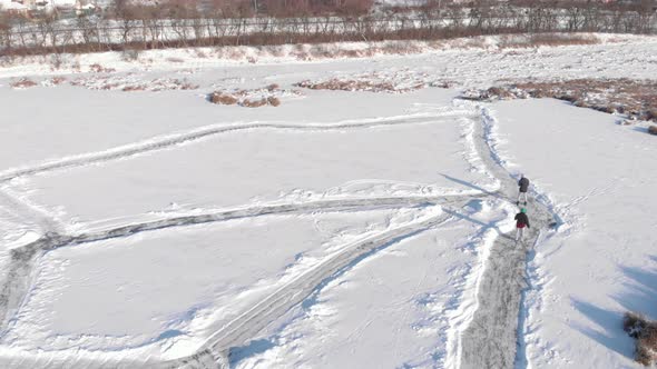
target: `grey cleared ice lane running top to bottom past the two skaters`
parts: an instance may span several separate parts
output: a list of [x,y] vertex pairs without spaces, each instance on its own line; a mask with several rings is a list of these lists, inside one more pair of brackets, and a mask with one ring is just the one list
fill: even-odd
[[[481,123],[477,124],[477,150],[487,168],[501,182],[501,191],[512,202],[517,196],[516,179],[502,166],[492,142],[494,119],[481,108]],[[455,327],[462,335],[451,363],[459,368],[513,368],[517,356],[518,326],[521,317],[523,290],[527,287],[529,252],[555,220],[542,203],[531,199],[526,206],[532,228],[524,242],[516,243],[514,235],[498,237],[482,260],[478,276],[475,307],[470,319]],[[529,246],[529,247],[528,247]]]

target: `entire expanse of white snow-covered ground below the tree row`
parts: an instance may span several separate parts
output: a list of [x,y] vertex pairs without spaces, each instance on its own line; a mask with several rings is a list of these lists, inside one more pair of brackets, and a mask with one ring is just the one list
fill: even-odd
[[[477,343],[463,348],[464,332],[487,317],[490,258],[510,245],[509,176],[524,172],[539,200],[530,209],[558,223],[535,223],[516,367],[633,367],[621,313],[657,318],[654,137],[553,100],[455,99],[504,79],[657,72],[657,39],[601,38],[0,68],[0,362],[459,367]],[[117,70],[87,72],[94,63]],[[22,77],[37,86],[11,87]],[[413,89],[295,87],[329,79]],[[154,80],[194,88],[122,91]],[[272,83],[292,91],[280,107],[206,100]]]

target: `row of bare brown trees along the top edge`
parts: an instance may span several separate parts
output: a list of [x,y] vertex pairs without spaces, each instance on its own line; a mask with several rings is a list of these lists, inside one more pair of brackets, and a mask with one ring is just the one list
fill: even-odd
[[0,56],[657,30],[653,1],[430,0],[373,7],[373,0],[115,0],[101,12],[69,19],[0,12]]

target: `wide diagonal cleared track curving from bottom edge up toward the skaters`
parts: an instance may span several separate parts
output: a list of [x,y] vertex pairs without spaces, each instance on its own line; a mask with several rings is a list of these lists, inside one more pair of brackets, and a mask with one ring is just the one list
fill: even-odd
[[[469,199],[462,201],[464,203]],[[345,246],[341,251],[300,275],[222,327],[206,340],[202,349],[195,355],[166,362],[163,368],[228,368],[231,348],[248,342],[267,325],[301,303],[317,288],[321,288],[326,280],[342,275],[367,255],[437,227],[452,218],[452,215],[441,212],[428,219],[406,223]]]

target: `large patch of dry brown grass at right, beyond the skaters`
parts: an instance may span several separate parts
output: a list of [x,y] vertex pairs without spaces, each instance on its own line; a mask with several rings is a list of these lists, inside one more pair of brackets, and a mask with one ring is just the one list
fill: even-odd
[[618,113],[629,119],[657,121],[657,82],[631,79],[576,79],[549,82],[519,82],[467,91],[471,100],[555,98],[576,107]]

